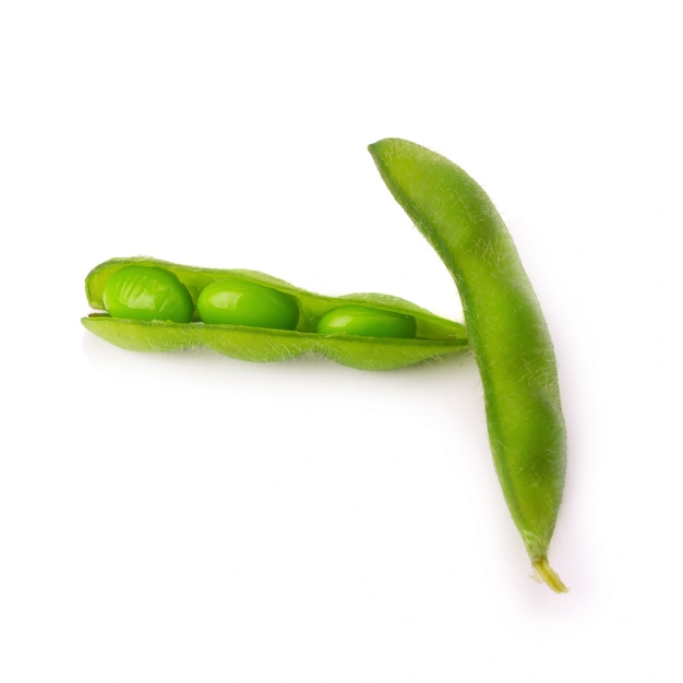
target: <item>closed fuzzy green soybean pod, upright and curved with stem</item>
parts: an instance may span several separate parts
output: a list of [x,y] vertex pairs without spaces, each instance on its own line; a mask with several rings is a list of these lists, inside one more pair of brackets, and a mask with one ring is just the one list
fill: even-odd
[[555,355],[514,242],[483,189],[448,159],[399,139],[369,151],[455,279],[507,506],[535,570],[564,592],[548,562],[566,466]]

